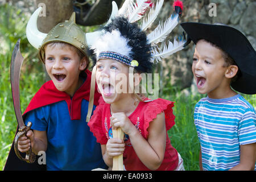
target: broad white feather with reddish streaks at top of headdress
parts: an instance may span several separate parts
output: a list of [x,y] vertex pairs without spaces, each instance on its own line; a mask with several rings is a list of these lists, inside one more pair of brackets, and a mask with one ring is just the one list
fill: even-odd
[[148,0],[137,0],[137,5],[133,2],[130,3],[130,6],[128,7],[128,17],[130,23],[136,22],[142,18],[147,7],[150,5],[150,3],[147,3],[147,1]]

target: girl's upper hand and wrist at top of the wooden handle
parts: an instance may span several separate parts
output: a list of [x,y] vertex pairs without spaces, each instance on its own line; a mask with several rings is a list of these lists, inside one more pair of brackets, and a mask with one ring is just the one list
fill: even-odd
[[127,135],[129,135],[131,129],[134,127],[125,113],[113,113],[112,117],[110,117],[110,126],[112,126],[112,129],[121,127]]

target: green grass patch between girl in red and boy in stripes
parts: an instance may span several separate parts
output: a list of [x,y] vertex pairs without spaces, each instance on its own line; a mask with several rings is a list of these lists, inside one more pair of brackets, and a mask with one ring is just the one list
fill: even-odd
[[175,101],[175,125],[168,131],[172,146],[183,158],[185,170],[199,170],[200,143],[193,122],[193,109],[200,96],[169,96],[166,99]]

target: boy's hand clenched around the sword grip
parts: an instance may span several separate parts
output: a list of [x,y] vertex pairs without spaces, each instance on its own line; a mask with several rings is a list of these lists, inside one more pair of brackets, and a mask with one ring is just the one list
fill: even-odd
[[20,137],[18,140],[18,150],[20,152],[26,152],[34,145],[34,133],[32,130],[27,132],[27,137]]

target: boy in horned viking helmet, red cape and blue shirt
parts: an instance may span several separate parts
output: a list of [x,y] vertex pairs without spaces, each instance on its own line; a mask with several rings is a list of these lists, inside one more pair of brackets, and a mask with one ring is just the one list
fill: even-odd
[[[26,125],[32,122],[32,130],[20,138],[19,151],[30,147],[35,154],[46,151],[47,170],[106,168],[101,146],[90,133],[84,112],[88,110],[91,78],[85,33],[75,23],[73,13],[69,20],[43,34],[35,26],[39,12],[40,8],[28,22],[27,38],[39,49],[39,59],[51,80],[39,89],[23,114]],[[93,109],[99,96],[96,92]]]

